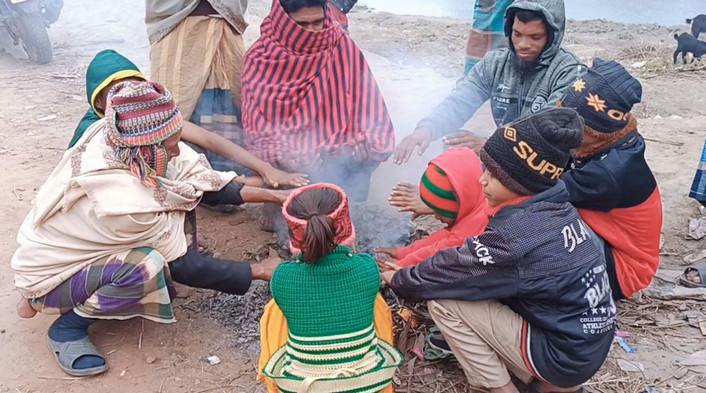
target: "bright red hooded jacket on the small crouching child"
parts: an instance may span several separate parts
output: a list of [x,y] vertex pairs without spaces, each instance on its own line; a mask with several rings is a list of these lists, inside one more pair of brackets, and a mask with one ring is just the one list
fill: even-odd
[[398,248],[397,264],[402,267],[416,265],[443,249],[459,247],[466,238],[482,233],[488,224],[487,202],[480,185],[483,167],[476,153],[465,147],[452,148],[431,162],[449,177],[459,201],[458,216],[452,226]]

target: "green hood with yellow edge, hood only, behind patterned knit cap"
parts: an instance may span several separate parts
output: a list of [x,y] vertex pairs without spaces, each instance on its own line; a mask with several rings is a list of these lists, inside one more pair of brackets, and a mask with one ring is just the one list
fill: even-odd
[[147,80],[140,69],[125,56],[112,49],[98,52],[86,70],[88,105],[98,116],[103,117],[103,111],[96,109],[95,106],[98,93],[113,81],[131,77]]

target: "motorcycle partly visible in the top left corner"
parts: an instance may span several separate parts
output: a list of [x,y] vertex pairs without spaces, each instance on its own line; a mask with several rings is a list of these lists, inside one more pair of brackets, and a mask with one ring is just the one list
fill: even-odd
[[52,57],[47,28],[59,20],[63,5],[63,0],[0,0],[0,27],[30,60],[46,64]]

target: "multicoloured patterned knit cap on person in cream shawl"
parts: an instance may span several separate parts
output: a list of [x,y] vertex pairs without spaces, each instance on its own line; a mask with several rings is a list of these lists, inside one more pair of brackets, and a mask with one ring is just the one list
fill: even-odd
[[118,83],[108,93],[105,139],[143,184],[159,187],[169,154],[162,142],[181,131],[181,112],[171,93],[154,82]]

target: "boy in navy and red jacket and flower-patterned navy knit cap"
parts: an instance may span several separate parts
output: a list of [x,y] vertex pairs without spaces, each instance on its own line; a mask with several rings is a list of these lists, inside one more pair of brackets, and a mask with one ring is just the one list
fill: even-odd
[[595,59],[560,104],[586,123],[561,180],[581,218],[605,240],[616,300],[650,285],[659,267],[662,200],[630,113],[641,98],[640,82],[623,66]]

